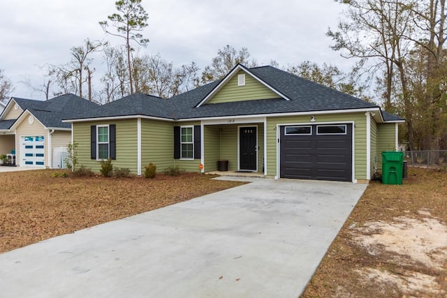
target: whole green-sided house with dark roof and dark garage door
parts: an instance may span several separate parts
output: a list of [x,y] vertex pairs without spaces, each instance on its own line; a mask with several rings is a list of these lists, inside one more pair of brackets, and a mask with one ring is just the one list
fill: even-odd
[[217,82],[168,100],[134,94],[67,119],[78,161],[142,174],[179,166],[262,172],[275,178],[364,182],[381,151],[397,147],[404,119],[373,103],[272,66],[237,65]]

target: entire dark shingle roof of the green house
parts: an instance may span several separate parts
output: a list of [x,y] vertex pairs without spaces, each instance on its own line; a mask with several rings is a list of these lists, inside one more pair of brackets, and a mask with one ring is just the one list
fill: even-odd
[[[321,84],[305,80],[272,66],[250,68],[260,80],[268,84],[290,100],[277,98],[246,100],[230,103],[203,104],[210,92],[221,80],[206,84],[197,89],[179,94],[168,100],[145,94],[134,94],[115,100],[71,119],[96,117],[119,117],[127,115],[147,115],[166,119],[193,119],[207,117],[226,117],[252,114],[277,114],[288,112],[314,112],[325,110],[356,110],[379,107],[373,103],[330,89]],[[386,114],[386,119],[399,120]],[[392,121],[392,120],[390,120]]]

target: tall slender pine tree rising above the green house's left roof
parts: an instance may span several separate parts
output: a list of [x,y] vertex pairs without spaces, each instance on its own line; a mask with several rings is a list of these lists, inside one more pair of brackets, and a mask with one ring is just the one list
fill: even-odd
[[133,79],[132,79],[132,61],[131,61],[131,41],[138,45],[146,46],[149,39],[142,38],[140,33],[147,27],[148,15],[145,9],[141,6],[142,0],[120,0],[115,2],[115,6],[119,13],[114,13],[108,16],[108,20],[112,22],[112,26],[117,29],[117,33],[108,31],[108,21],[99,22],[105,33],[112,36],[124,38],[126,41],[127,51],[127,67],[129,70],[129,86],[131,94],[133,94]]

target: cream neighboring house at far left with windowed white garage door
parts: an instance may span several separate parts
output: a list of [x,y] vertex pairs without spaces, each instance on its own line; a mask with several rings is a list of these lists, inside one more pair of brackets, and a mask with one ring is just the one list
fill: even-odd
[[11,98],[0,114],[0,154],[20,167],[63,167],[53,151],[71,142],[71,125],[62,119],[98,107],[73,94],[50,100]]

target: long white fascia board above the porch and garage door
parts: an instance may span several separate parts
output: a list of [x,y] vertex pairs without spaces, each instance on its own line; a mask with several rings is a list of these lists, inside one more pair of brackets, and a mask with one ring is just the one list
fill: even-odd
[[[190,119],[178,119],[177,122],[186,121],[210,121],[210,120],[228,120],[228,119],[241,119],[241,118],[263,118],[263,117],[288,117],[288,116],[305,116],[305,115],[318,115],[318,114],[343,114],[343,113],[358,113],[358,112],[375,112],[379,107],[356,109],[356,110],[328,110],[328,111],[314,111],[314,112],[288,112],[288,113],[272,113],[272,114],[252,114],[252,115],[238,115],[238,116],[219,116],[219,117],[203,117],[203,118],[190,118]],[[230,122],[228,122],[230,124]]]

